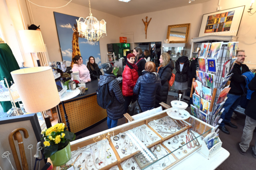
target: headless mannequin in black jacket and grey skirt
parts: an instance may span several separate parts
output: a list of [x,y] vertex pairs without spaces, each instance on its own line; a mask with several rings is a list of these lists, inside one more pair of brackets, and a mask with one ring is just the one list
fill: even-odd
[[189,68],[189,60],[188,57],[182,56],[175,61],[175,81],[174,88],[179,90],[178,94],[180,94],[181,90],[188,89],[188,68]]

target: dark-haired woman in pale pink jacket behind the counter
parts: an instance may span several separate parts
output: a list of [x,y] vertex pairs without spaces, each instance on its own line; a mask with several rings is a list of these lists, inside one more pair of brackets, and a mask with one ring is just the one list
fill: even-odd
[[79,79],[84,80],[84,82],[90,82],[90,72],[86,65],[83,64],[83,58],[80,55],[76,55],[73,59],[73,64],[72,66],[72,72],[79,71]]

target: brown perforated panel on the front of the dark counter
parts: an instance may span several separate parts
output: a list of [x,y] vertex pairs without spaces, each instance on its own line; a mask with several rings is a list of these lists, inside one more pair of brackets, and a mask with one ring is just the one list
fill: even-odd
[[[98,106],[97,96],[93,95],[81,100],[64,104],[70,123],[70,130],[74,133],[89,127],[107,117],[106,109]],[[62,104],[59,105],[62,122],[66,124],[66,119]]]

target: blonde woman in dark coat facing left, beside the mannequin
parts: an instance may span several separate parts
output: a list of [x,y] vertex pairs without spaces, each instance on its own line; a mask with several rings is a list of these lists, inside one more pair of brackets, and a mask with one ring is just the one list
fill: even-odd
[[171,79],[172,70],[174,69],[174,63],[168,53],[162,53],[159,61],[160,66],[158,67],[158,74],[161,79],[162,88],[159,95],[156,96],[156,107],[159,107],[161,102],[167,102],[169,80]]

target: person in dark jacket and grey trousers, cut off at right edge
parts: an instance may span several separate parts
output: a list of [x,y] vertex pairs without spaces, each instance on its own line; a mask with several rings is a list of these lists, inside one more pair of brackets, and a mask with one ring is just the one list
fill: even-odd
[[[248,88],[252,91],[256,91],[256,76],[251,80],[248,84]],[[252,93],[251,100],[248,103],[244,113],[246,114],[245,125],[244,125],[244,133],[241,137],[242,142],[237,143],[237,148],[240,154],[245,155],[246,150],[248,150],[250,146],[250,142],[252,141],[253,131],[256,127],[256,113],[255,113],[255,105],[256,105],[256,92]],[[252,156],[256,158],[256,141],[254,147],[252,147]]]

